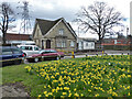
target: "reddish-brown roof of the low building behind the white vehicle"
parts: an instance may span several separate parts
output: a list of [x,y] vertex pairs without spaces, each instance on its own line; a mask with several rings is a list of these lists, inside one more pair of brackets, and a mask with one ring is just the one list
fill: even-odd
[[6,40],[7,41],[31,41],[31,35],[30,34],[7,33],[6,34]]

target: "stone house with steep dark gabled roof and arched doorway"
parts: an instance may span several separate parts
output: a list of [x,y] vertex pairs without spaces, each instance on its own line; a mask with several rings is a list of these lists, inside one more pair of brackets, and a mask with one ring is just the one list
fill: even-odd
[[77,50],[77,35],[64,18],[55,21],[36,19],[33,41],[41,48]]

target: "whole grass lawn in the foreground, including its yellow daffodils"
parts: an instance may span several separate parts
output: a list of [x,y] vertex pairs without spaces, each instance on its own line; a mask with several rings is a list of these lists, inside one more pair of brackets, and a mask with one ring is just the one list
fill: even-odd
[[[22,82],[31,97],[129,97],[130,56],[94,56],[7,66],[2,85]],[[131,90],[132,91],[132,90]]]

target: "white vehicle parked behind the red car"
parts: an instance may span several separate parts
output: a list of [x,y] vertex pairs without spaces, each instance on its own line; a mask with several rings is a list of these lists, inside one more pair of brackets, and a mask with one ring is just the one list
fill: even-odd
[[24,53],[24,56],[29,56],[32,54],[40,54],[40,47],[36,45],[16,45],[19,48],[21,48]]

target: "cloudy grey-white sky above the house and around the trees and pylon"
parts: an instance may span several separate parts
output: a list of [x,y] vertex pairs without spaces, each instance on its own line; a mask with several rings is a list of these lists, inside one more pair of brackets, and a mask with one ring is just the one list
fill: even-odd
[[[20,3],[18,3],[20,1]],[[94,3],[94,0],[0,0],[1,2],[10,2],[14,11],[18,13],[21,9],[16,7],[22,6],[22,1],[29,1],[29,10],[31,18],[32,28],[34,26],[34,21],[38,19],[56,20],[58,18],[64,18],[67,22],[70,22],[72,26],[76,31],[76,26],[72,21],[76,18],[76,13],[80,10],[80,7],[88,7]],[[129,26],[130,19],[130,1],[131,0],[97,0],[105,1],[110,7],[114,7],[117,11],[121,12],[128,20],[124,22]],[[18,16],[18,20],[20,18]],[[16,21],[16,29],[10,32],[19,32],[21,21]],[[87,35],[89,36],[89,35]]]

